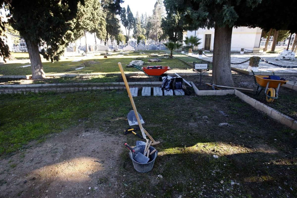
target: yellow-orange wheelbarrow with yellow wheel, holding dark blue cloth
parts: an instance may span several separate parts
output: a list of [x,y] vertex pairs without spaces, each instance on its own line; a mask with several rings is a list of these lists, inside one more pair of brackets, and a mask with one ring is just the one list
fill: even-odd
[[[265,79],[265,78],[268,78],[269,76],[255,75],[254,72],[253,72],[253,75],[255,76],[255,83],[256,85],[258,85],[256,90],[256,95],[259,95],[261,91],[265,88],[264,94],[266,96],[267,102],[273,102],[274,99],[277,99],[279,87],[285,84],[286,82],[288,82],[288,80]],[[273,75],[274,75],[274,72],[273,72]]]

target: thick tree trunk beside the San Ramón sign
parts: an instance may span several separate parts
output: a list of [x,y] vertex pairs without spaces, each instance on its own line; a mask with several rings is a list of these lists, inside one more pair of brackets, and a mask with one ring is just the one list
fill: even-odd
[[212,81],[216,85],[234,87],[231,73],[232,27],[214,29],[214,57],[212,59]]

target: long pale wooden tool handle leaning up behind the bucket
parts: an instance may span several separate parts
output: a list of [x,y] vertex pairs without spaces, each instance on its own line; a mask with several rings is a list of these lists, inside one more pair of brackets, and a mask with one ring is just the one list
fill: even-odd
[[133,100],[133,97],[132,97],[132,94],[131,94],[131,91],[130,91],[130,88],[129,88],[129,84],[128,84],[128,82],[127,82],[127,79],[126,79],[126,76],[125,76],[125,73],[124,73],[123,66],[122,66],[122,64],[121,64],[120,62],[118,63],[118,65],[119,65],[119,69],[120,69],[120,71],[121,71],[121,75],[122,75],[122,77],[123,77],[123,80],[124,80],[124,83],[125,83],[125,86],[126,86],[126,89],[127,89],[128,95],[129,95],[129,98],[130,98],[130,101],[131,101],[131,104],[132,104],[132,107],[133,107],[133,110],[134,110],[134,113],[135,113],[135,116],[136,116],[136,119],[137,119],[137,122],[138,122],[138,126],[139,126],[139,128],[140,128],[142,137],[143,137],[144,139],[146,139],[146,135],[147,135],[147,136],[149,137],[149,139],[150,139],[153,143],[155,143],[155,145],[156,145],[156,144],[159,144],[160,142],[156,142],[156,141],[154,140],[154,138],[151,137],[151,135],[150,135],[145,129],[143,129],[142,124],[141,124],[141,121],[140,121],[140,118],[139,118],[139,116],[138,116],[138,112],[137,112],[137,109],[136,109],[134,100]]

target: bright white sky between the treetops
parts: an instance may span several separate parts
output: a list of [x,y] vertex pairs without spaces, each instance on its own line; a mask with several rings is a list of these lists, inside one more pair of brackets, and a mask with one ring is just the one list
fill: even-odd
[[[127,6],[129,5],[134,17],[137,11],[139,13],[139,16],[145,13],[147,16],[149,16],[152,15],[155,3],[156,0],[124,0],[124,3],[121,4],[121,7],[124,7],[127,10]],[[126,30],[122,24],[121,30],[123,31],[124,35],[126,35]],[[130,35],[132,34],[133,30],[132,32],[130,31]]]

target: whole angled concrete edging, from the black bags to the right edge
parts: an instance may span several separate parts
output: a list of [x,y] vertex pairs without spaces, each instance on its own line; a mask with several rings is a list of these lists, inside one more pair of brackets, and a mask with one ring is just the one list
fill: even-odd
[[[251,105],[255,109],[266,113],[269,117],[273,118],[276,121],[279,121],[280,123],[290,127],[293,130],[297,131],[297,121],[293,118],[280,113],[279,111],[275,110],[274,108],[271,108],[267,106],[266,104],[263,104],[262,102],[257,101],[256,99],[253,99],[252,97],[247,96],[246,94],[242,93],[241,91],[238,91],[236,89],[231,90],[199,90],[193,82],[191,82],[191,85],[194,88],[195,94],[199,96],[222,96],[227,94],[235,94],[238,98],[240,98],[242,101],[246,102],[247,104]],[[295,85],[297,85],[297,82],[295,82]]]

